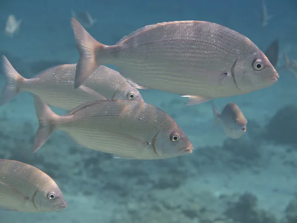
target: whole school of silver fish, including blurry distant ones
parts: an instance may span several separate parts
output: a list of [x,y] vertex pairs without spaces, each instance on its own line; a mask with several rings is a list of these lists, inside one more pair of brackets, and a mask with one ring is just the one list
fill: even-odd
[[[39,122],[32,152],[43,147],[55,131],[66,132],[78,145],[113,158],[156,160],[191,154],[194,146],[165,111],[146,103],[138,89],[156,89],[187,97],[186,105],[247,94],[272,86],[279,74],[279,44],[265,54],[246,36],[206,21],[173,21],[147,25],[115,45],[96,41],[85,28],[97,21],[87,12],[71,11],[80,58],[41,71],[33,78],[19,74],[2,56],[6,84],[0,106],[20,92],[30,92]],[[262,26],[271,18],[262,0]],[[5,34],[13,36],[22,20],[7,20]],[[82,24],[82,25],[81,25]],[[297,63],[284,52],[285,68],[297,75]],[[113,64],[120,72],[104,64]],[[214,103],[214,126],[238,139],[247,119],[234,103],[220,113]],[[49,106],[66,110],[58,115]],[[0,160],[0,210],[52,212],[67,202],[42,170],[13,160]]]

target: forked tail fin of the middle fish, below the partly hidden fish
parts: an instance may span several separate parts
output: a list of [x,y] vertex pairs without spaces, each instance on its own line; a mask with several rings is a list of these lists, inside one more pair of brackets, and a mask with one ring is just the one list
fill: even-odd
[[39,128],[35,134],[32,153],[35,153],[46,143],[46,141],[48,141],[50,135],[55,130],[53,120],[59,117],[59,115],[51,111],[49,106],[37,95],[34,95],[34,106],[39,122]]

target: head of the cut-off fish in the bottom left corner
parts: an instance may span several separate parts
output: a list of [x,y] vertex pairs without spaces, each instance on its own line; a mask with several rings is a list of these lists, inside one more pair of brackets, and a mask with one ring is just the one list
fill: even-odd
[[42,190],[33,197],[35,207],[43,212],[59,211],[67,208],[62,192],[55,182],[47,181]]

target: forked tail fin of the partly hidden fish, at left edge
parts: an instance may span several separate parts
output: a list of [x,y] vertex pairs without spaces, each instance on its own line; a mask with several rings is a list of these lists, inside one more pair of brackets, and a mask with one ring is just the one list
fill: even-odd
[[18,82],[21,79],[25,79],[13,68],[4,55],[2,55],[2,69],[6,78],[6,84],[0,95],[0,106],[9,102],[20,92]]

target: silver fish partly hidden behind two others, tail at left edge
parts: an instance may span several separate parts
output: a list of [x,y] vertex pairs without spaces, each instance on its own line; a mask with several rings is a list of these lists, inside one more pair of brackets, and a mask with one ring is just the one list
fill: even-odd
[[48,105],[72,110],[86,102],[106,99],[143,101],[139,91],[117,71],[99,66],[88,81],[73,88],[76,64],[64,64],[42,71],[38,76],[22,77],[2,56],[6,85],[0,95],[0,105],[9,102],[19,92],[27,91],[40,96]]

